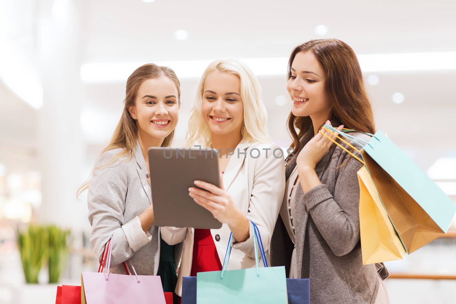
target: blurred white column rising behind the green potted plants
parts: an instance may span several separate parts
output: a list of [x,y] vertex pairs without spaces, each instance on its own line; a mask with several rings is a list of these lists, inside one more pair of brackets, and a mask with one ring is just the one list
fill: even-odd
[[42,205],[38,220],[73,231],[87,229],[87,204],[76,200],[84,180],[85,147],[80,127],[83,85],[79,1],[38,2],[37,44],[44,90],[38,113],[38,151]]

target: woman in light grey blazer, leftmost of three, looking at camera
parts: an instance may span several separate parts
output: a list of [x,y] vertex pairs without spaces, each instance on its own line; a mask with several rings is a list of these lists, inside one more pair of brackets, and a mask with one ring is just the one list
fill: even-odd
[[98,259],[110,240],[110,271],[125,274],[122,263],[130,259],[138,274],[160,275],[166,292],[176,286],[182,247],[161,242],[160,228],[154,225],[147,150],[170,146],[180,95],[179,79],[170,68],[138,67],[128,77],[124,111],[111,142],[92,179],[79,190],[88,188],[90,244]]

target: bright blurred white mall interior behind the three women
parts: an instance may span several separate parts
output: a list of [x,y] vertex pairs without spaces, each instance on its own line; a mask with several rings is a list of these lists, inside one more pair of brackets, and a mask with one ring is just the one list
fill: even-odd
[[[198,78],[217,58],[258,76],[271,139],[291,140],[292,48],[338,38],[356,52],[378,129],[456,201],[456,4],[412,1],[0,0],[0,304],[53,303],[43,263],[26,283],[18,234],[67,237],[60,284],[96,271],[85,192],[76,190],[119,121],[125,81],[147,62],[174,68],[183,143]],[[455,303],[456,220],[404,260],[385,263],[391,303]]]

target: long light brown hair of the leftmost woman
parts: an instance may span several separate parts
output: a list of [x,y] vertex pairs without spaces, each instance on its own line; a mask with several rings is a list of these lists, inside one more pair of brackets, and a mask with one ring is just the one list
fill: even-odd
[[[101,151],[98,159],[101,155],[109,150],[118,148],[122,148],[122,150],[118,154],[114,155],[114,157],[112,157],[106,163],[98,167],[94,167],[90,175],[92,175],[96,170],[101,170],[108,167],[109,165],[114,164],[121,157],[129,156],[129,159],[131,159],[133,155],[135,155],[136,141],[138,139],[138,129],[136,127],[135,119],[131,117],[130,111],[128,109],[132,106],[135,106],[136,95],[142,82],[147,79],[156,79],[161,76],[168,77],[174,81],[177,88],[177,101],[179,104],[181,104],[181,82],[179,82],[176,73],[171,68],[159,67],[153,63],[147,63],[138,67],[135,72],[131,73],[130,77],[127,79],[122,117],[120,118],[120,121],[114,130],[114,134],[109,144]],[[172,130],[172,132],[165,137],[163,143],[161,144],[162,147],[169,147],[171,145],[174,139],[174,133],[174,130]],[[96,163],[98,163],[98,159]],[[90,178],[79,187],[76,196],[78,197],[81,192],[88,189],[89,184]]]

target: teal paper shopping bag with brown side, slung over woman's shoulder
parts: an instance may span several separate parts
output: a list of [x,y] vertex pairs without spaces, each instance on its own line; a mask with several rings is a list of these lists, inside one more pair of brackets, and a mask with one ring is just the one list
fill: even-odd
[[382,131],[369,134],[369,141],[340,135],[363,148],[366,168],[408,253],[446,233],[456,204],[391,139]]

